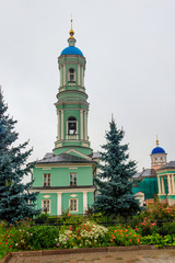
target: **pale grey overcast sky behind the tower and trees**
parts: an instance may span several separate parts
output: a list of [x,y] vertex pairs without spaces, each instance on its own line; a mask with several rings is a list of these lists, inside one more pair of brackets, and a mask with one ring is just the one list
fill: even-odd
[[31,160],[54,149],[59,88],[57,58],[73,16],[86,57],[89,136],[105,142],[112,113],[138,170],[160,146],[175,160],[174,0],[0,0],[0,84]]

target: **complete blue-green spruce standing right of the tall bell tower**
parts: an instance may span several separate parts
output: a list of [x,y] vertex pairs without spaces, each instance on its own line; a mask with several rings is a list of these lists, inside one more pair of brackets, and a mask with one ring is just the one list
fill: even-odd
[[136,173],[136,162],[128,160],[128,145],[120,144],[124,130],[117,129],[113,119],[109,127],[105,136],[107,144],[102,146],[100,174],[94,179],[98,192],[94,209],[127,217],[140,210],[139,202],[131,192],[130,179]]

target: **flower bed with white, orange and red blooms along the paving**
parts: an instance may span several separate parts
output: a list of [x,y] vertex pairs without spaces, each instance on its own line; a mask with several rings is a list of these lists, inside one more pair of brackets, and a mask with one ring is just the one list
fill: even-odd
[[[158,216],[158,207],[160,215]],[[173,215],[173,216],[172,216]],[[115,245],[156,244],[158,247],[175,245],[175,221],[159,219],[175,218],[174,207],[159,204],[135,216],[129,222],[103,227],[100,217],[95,222],[93,215],[85,217],[63,215],[56,218],[57,226],[33,225],[32,220],[16,222],[15,226],[0,224],[0,258],[11,251],[75,249]],[[58,222],[72,225],[60,226]],[[103,221],[103,218],[102,218]]]

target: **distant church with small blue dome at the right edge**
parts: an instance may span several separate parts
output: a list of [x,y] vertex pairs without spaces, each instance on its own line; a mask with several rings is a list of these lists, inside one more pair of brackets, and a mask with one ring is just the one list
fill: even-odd
[[142,204],[149,205],[155,197],[170,205],[175,204],[175,161],[167,163],[166,156],[156,138],[156,147],[150,155],[151,169],[143,169],[133,176],[132,192]]

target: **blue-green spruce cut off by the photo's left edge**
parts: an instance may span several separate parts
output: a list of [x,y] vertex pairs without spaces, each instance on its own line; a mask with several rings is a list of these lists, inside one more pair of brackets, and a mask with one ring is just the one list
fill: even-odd
[[36,193],[28,193],[32,182],[22,183],[24,175],[32,172],[34,163],[26,165],[32,150],[26,150],[28,142],[13,146],[19,134],[14,130],[16,121],[7,114],[0,90],[0,220],[15,222],[39,214],[35,210]]

